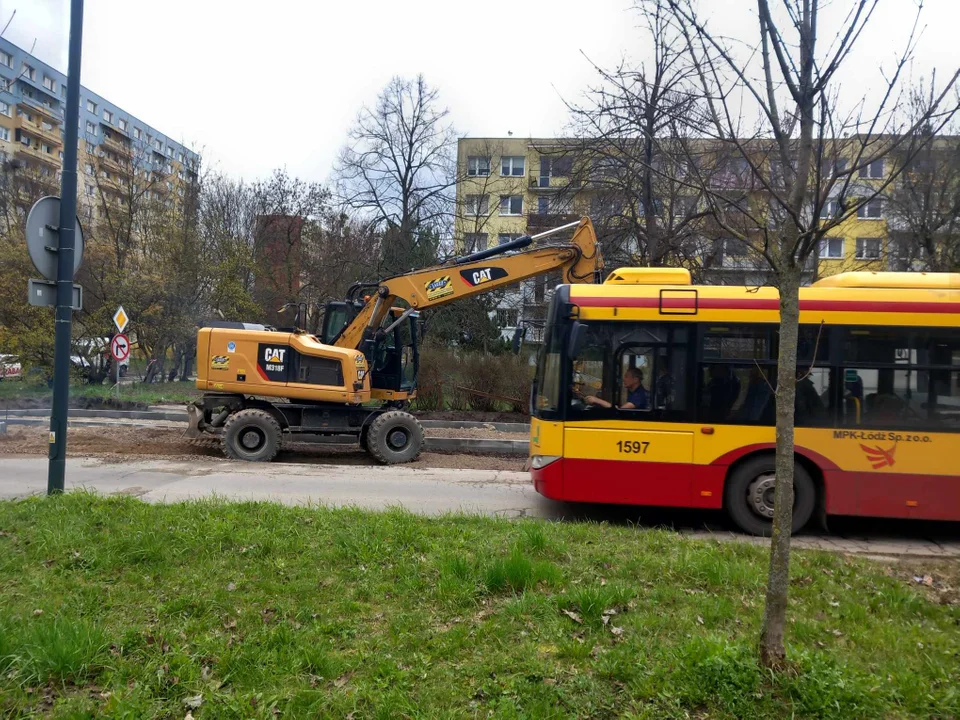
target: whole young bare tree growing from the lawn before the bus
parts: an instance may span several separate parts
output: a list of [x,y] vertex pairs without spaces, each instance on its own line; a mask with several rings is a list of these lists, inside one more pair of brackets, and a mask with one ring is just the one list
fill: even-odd
[[[844,114],[836,75],[877,0],[850,0],[835,28],[819,22],[821,0],[784,0],[776,13],[769,0],[757,0],[756,34],[740,38],[714,33],[693,0],[645,4],[668,9],[683,38],[696,71],[691,92],[703,98],[695,127],[706,128],[709,146],[716,148],[709,164],[702,155],[698,160],[687,154],[685,182],[703,193],[728,237],[769,265],[779,289],[776,490],[760,654],[764,665],[780,668],[786,656],[801,276],[827,233],[886,192],[926,146],[917,141],[917,128],[929,123],[935,133],[953,117],[957,72],[951,70],[920,117],[903,120],[898,88],[916,44],[914,25],[884,75],[880,99],[872,108],[863,101]],[[861,180],[865,168],[904,148],[909,152],[903,163],[882,178]],[[830,203],[832,210],[824,212]]]

